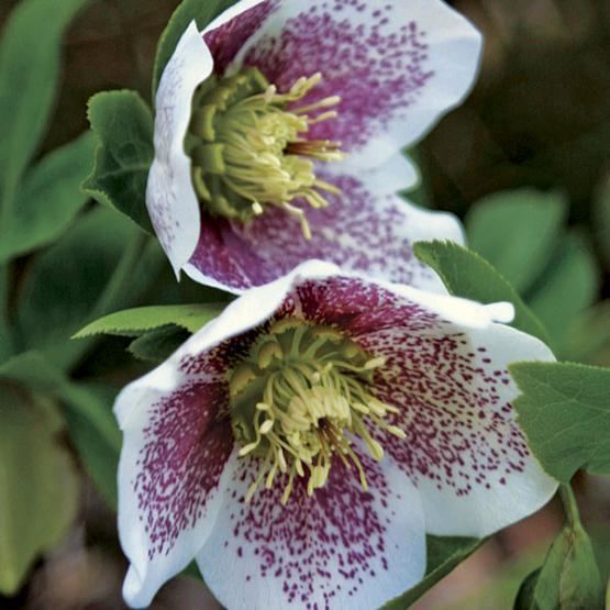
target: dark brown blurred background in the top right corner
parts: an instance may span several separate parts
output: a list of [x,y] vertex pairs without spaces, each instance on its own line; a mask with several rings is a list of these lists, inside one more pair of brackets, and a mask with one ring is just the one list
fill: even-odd
[[486,34],[470,99],[424,145],[435,201],[455,209],[518,187],[562,189],[589,220],[608,171],[606,0],[454,0]]

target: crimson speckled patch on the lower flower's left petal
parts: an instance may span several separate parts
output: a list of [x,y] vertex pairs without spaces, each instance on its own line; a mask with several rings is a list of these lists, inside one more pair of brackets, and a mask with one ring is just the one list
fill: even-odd
[[192,384],[153,404],[133,481],[148,556],[167,554],[206,514],[233,447],[231,428],[217,421],[226,403],[221,384]]

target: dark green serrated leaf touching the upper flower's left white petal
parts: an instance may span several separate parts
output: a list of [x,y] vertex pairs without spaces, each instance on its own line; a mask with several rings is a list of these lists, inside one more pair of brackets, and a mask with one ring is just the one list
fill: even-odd
[[88,115],[98,148],[85,192],[152,232],[146,211],[146,180],[155,156],[149,108],[135,91],[107,91],[90,99]]

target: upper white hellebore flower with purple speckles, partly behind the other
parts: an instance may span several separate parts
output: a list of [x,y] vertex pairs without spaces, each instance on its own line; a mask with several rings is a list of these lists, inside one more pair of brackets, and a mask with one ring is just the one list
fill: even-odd
[[234,292],[307,259],[440,289],[413,240],[463,241],[397,192],[468,92],[478,32],[440,0],[242,0],[192,23],[156,96],[146,203],[174,269]]

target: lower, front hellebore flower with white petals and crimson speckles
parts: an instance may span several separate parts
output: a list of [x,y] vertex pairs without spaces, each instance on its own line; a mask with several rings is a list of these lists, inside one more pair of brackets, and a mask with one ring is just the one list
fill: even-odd
[[230,610],[376,608],[425,532],[539,509],[507,367],[553,356],[511,315],[315,260],[232,302],[117,400],[127,603],[196,558]]

